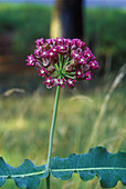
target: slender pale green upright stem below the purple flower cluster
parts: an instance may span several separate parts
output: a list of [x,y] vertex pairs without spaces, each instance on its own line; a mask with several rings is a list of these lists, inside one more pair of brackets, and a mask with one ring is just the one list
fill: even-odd
[[59,97],[60,97],[60,86],[56,87],[55,102],[54,102],[52,125],[50,131],[49,155],[48,155],[48,163],[46,163],[46,170],[49,171],[49,177],[46,178],[46,189],[50,189],[50,162],[52,156],[53,133],[54,133],[54,127],[56,121]]

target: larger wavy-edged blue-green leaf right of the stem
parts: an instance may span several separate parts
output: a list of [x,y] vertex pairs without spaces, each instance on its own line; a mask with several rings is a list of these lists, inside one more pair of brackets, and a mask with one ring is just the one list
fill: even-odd
[[78,173],[84,181],[97,176],[103,188],[115,187],[118,180],[126,185],[126,153],[109,153],[105,148],[96,147],[84,155],[53,158],[51,172],[62,180],[70,179],[73,172]]

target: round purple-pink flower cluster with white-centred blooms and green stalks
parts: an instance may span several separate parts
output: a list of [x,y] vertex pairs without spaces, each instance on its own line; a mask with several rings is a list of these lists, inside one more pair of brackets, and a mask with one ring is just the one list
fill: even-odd
[[36,67],[48,88],[74,88],[78,80],[91,80],[92,70],[98,69],[96,58],[80,39],[38,39],[34,54],[28,56],[27,66]]

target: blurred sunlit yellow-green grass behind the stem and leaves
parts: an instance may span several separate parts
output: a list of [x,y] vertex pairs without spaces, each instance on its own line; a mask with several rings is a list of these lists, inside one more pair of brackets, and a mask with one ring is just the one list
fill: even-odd
[[[67,157],[70,153],[83,153],[97,120],[101,106],[107,92],[107,86],[96,87],[81,94],[73,90],[66,96],[61,91],[59,113],[55,127],[53,157]],[[124,82],[119,83],[106,106],[98,131],[91,147],[103,146],[109,152],[125,151],[125,94]],[[19,166],[25,158],[40,166],[46,162],[49,131],[53,111],[54,90],[20,98],[0,99],[0,156],[11,166]],[[62,181],[51,178],[52,189],[92,188],[99,189],[98,179],[83,182],[78,176]],[[7,180],[2,189],[15,189],[12,180]],[[45,180],[40,187],[45,188]],[[123,189],[118,183],[117,189]]]

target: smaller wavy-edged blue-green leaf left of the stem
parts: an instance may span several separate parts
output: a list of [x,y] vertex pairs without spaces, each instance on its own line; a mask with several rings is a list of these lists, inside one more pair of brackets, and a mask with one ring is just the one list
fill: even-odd
[[49,172],[45,170],[44,165],[36,167],[29,159],[25,159],[19,167],[13,168],[0,158],[0,186],[6,182],[7,178],[10,178],[20,188],[34,189],[40,185],[41,178],[45,178],[48,175]]

